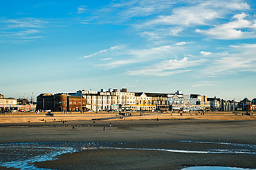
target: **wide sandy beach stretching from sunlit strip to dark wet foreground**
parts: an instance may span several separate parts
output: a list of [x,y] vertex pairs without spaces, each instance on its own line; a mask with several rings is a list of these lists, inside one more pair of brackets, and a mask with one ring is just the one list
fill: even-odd
[[[57,160],[33,163],[44,169],[256,169],[255,118],[235,114],[113,114],[23,116],[21,120],[21,116],[6,116],[0,117],[0,143],[71,142],[79,149],[57,156]],[[97,143],[96,149],[82,147],[89,143]]]

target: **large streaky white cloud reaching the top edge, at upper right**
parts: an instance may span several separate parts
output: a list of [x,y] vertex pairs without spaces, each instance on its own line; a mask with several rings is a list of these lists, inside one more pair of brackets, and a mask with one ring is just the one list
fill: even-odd
[[[185,3],[183,1],[183,3]],[[239,1],[188,1],[187,6],[172,9],[172,14],[161,15],[145,25],[208,25],[208,21],[221,18],[227,10],[248,10],[247,3]]]

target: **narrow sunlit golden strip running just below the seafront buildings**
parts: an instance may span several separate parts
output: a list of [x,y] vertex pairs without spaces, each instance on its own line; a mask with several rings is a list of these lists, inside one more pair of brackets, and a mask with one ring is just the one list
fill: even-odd
[[[191,111],[190,113],[168,112],[122,112],[120,115],[116,112],[51,112],[53,116],[46,116],[47,112],[39,114],[31,112],[13,112],[12,114],[0,114],[0,124],[3,123],[39,123],[39,122],[57,122],[57,121],[74,121],[74,120],[154,120],[154,119],[201,119],[201,120],[256,120],[256,114],[245,115],[245,111],[207,111],[198,112]],[[182,115],[181,115],[182,114]]]

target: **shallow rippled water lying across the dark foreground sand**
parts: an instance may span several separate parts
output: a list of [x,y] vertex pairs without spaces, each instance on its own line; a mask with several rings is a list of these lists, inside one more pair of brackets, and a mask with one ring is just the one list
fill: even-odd
[[[133,150],[149,150],[149,151],[167,151],[176,153],[239,153],[239,154],[256,154],[256,145],[244,145],[237,143],[225,142],[203,142],[180,140],[175,142],[181,143],[201,143],[205,148],[193,149],[173,149],[173,148],[135,148],[126,147],[125,143],[116,142],[30,142],[30,143],[9,143],[0,144],[0,166],[12,167],[17,169],[42,169],[35,167],[33,163],[56,160],[57,156],[64,153],[74,153],[84,149],[133,149]],[[210,145],[211,147],[207,147]],[[228,149],[223,149],[228,146]],[[212,148],[216,147],[216,148]],[[217,167],[194,167],[195,169],[187,168],[185,170],[200,170],[214,169]],[[226,167],[225,167],[226,168]],[[225,170],[225,168],[223,170]],[[222,169],[221,169],[222,170]],[[235,169],[238,170],[238,169]]]

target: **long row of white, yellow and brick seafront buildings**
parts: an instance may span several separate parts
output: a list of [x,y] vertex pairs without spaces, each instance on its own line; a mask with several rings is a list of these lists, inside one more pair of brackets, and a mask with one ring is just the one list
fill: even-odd
[[240,102],[201,94],[128,92],[126,88],[40,94],[37,109],[53,111],[233,111],[255,110],[256,98]]

